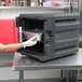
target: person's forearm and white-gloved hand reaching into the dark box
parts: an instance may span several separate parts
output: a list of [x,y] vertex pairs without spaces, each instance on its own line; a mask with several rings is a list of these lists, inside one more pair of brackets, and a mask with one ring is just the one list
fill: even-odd
[[14,43],[14,44],[8,44],[8,45],[0,45],[0,52],[10,52],[10,51],[16,51],[20,47],[27,47],[32,46],[37,43],[37,37],[32,37],[31,39],[23,42],[23,43]]

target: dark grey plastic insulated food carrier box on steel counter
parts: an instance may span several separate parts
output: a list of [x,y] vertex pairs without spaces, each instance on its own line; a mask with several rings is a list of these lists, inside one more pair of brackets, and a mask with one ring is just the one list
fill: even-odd
[[[16,26],[23,31],[42,32],[42,39],[36,45],[20,49],[41,62],[71,55],[79,50],[79,14],[20,14]],[[23,41],[26,41],[23,35]]]

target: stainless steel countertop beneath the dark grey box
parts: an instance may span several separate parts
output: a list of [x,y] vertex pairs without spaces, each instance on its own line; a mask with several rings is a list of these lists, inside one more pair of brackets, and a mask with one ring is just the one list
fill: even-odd
[[38,70],[38,69],[82,69],[82,49],[73,55],[41,63],[37,59],[15,53],[13,70]]

